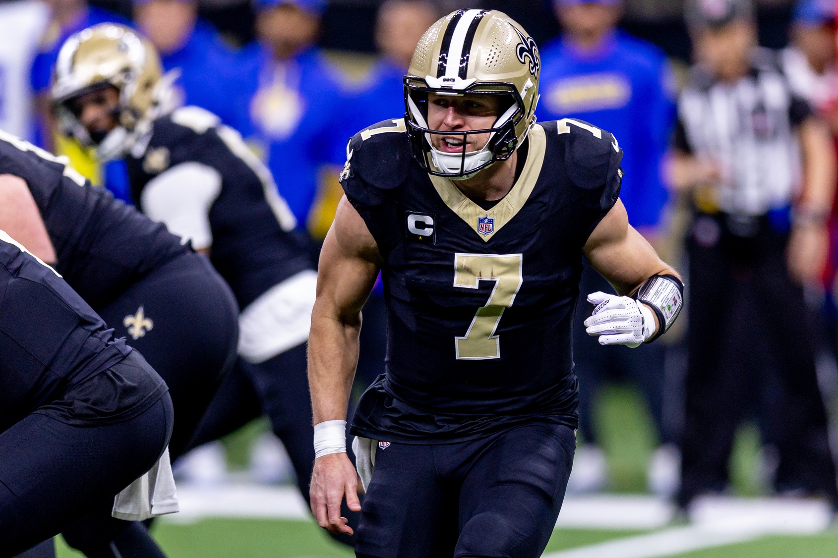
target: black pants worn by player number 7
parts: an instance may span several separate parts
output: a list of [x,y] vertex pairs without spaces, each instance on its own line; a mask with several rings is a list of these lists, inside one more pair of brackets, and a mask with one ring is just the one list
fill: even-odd
[[468,442],[380,444],[358,558],[538,558],[565,497],[576,437],[533,422]]

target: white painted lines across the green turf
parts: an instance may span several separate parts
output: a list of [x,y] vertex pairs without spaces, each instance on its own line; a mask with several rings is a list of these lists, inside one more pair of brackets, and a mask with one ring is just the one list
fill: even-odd
[[[309,520],[308,506],[296,487],[229,483],[178,486],[180,513],[173,522],[204,518]],[[561,529],[655,530],[670,523],[673,508],[650,496],[593,495],[565,500],[556,522]],[[688,526],[552,552],[543,558],[656,558],[691,550],[731,545],[770,534],[811,534],[830,522],[819,501],[783,499],[701,499]]]

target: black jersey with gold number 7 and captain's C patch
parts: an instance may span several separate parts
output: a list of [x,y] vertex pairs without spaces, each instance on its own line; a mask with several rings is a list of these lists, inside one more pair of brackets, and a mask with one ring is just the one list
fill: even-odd
[[349,142],[341,183],[383,258],[386,372],[351,431],[466,440],[534,418],[577,424],[582,246],[619,195],[623,152],[576,120],[535,125],[515,185],[482,209],[411,157],[404,122]]

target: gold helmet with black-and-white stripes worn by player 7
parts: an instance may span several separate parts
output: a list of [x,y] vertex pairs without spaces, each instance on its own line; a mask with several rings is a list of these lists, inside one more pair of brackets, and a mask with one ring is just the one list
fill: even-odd
[[[496,10],[458,10],[429,28],[404,79],[406,127],[413,156],[429,173],[468,178],[510,157],[535,124],[541,58],[535,41],[518,23]],[[438,132],[427,125],[428,93],[504,96],[494,126],[468,132]],[[476,152],[446,153],[433,147],[433,134],[489,133]]]

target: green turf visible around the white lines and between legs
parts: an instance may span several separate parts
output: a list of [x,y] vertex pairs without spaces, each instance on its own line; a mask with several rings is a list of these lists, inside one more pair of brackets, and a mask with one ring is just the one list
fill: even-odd
[[[225,440],[231,468],[246,466],[248,447],[266,422],[255,422]],[[597,429],[608,457],[610,489],[644,493],[645,470],[656,445],[656,433],[636,390],[608,385],[597,406]],[[732,457],[732,493],[756,496],[765,492],[758,475],[758,434],[744,426]],[[580,549],[600,542],[630,538],[637,531],[560,529],[548,553]],[[349,550],[334,544],[313,521],[267,519],[202,519],[194,523],[160,521],[154,536],[169,558],[342,558]],[[58,558],[80,558],[62,540]],[[597,556],[590,552],[585,556]],[[681,558],[838,558],[838,529],[811,536],[765,536],[741,544],[696,550]]]

